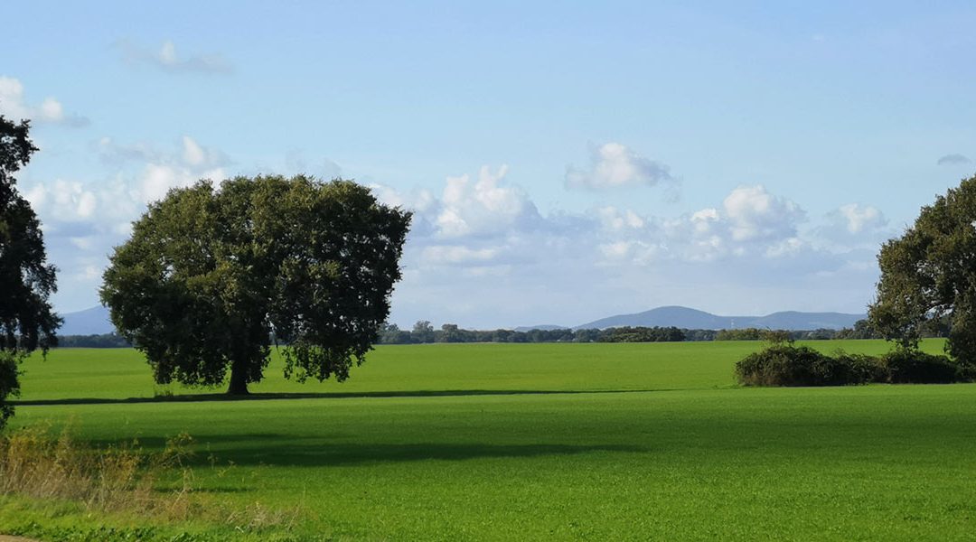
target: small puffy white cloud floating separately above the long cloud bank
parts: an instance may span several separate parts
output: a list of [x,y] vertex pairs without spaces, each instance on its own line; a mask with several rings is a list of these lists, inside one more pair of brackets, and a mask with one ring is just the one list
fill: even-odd
[[668,165],[644,158],[621,143],[609,142],[590,148],[590,169],[568,166],[565,184],[568,188],[604,189],[675,180]]

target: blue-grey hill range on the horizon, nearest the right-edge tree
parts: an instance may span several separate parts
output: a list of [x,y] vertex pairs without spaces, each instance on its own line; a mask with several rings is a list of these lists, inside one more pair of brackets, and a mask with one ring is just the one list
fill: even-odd
[[777,312],[767,316],[717,316],[688,307],[658,307],[636,314],[621,314],[576,326],[573,329],[606,329],[624,326],[655,326],[684,329],[841,329],[850,328],[863,314],[836,312]]

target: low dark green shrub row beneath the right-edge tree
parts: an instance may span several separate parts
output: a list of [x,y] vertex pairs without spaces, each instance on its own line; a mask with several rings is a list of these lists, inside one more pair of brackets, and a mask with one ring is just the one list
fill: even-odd
[[833,356],[807,346],[777,342],[736,364],[745,386],[845,386],[882,383],[959,382],[965,374],[945,356],[898,349],[879,358],[842,351]]

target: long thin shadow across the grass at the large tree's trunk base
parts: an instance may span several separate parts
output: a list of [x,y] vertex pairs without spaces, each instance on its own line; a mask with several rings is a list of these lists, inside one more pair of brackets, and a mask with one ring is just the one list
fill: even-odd
[[203,403],[231,401],[276,401],[288,399],[369,399],[369,398],[409,398],[409,397],[467,397],[492,395],[579,395],[579,394],[626,394],[673,391],[668,388],[634,390],[402,390],[374,392],[270,392],[249,395],[183,394],[156,397],[129,397],[111,399],[101,397],[82,397],[65,399],[28,399],[10,401],[10,405],[22,407],[43,407],[52,405],[128,405],[139,403]]

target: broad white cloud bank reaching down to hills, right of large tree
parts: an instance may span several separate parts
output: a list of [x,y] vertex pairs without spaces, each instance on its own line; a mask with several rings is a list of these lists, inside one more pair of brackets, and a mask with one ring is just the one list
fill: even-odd
[[[795,202],[747,185],[676,216],[612,206],[543,214],[503,181],[505,173],[484,168],[477,179],[450,177],[442,192],[374,186],[386,203],[416,213],[393,321],[490,327],[531,318],[574,325],[663,304],[719,310],[715,299],[740,307],[732,312],[853,311],[876,280],[874,251],[859,247],[884,223],[870,206],[843,206],[807,227]],[[487,197],[496,189],[507,190],[497,198],[507,205],[486,203],[496,201]],[[834,218],[852,231],[828,250],[817,232]],[[429,227],[418,230],[418,223]],[[794,303],[811,299],[810,291],[822,294]]]

